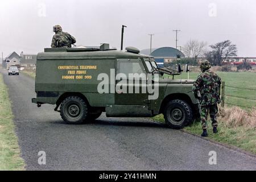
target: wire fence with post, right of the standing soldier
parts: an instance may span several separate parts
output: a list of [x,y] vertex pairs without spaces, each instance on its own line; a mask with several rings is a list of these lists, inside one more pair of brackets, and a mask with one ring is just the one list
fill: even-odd
[[[241,88],[238,86],[230,86],[230,85],[225,85],[225,82],[222,82],[222,94],[221,94],[221,100],[222,100],[222,106],[224,106],[224,104],[226,105],[233,105],[233,106],[238,106],[238,107],[243,107],[246,109],[255,109],[256,108],[256,97],[255,98],[251,98],[251,97],[245,97],[245,96],[235,96],[233,94],[226,94],[225,93],[225,87],[226,88],[232,88],[232,89],[241,89],[241,90],[255,90],[256,88]],[[249,91],[248,91],[249,92]],[[226,101],[226,96],[228,97],[232,97],[232,98],[237,98],[238,100],[247,100],[248,102],[255,102],[255,105],[253,104],[253,106],[247,106],[247,105],[241,105],[241,104],[236,104],[236,103],[232,103],[232,102],[227,102]]]

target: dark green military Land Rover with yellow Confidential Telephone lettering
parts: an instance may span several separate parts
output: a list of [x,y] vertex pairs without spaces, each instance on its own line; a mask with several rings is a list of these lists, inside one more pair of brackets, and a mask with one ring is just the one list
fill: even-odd
[[[158,68],[154,57],[141,55],[134,47],[46,48],[37,56],[32,102],[38,107],[56,105],[55,111],[68,124],[92,121],[102,112],[106,117],[164,114],[168,126],[181,129],[195,118],[198,106],[191,91],[193,80],[174,79],[180,73],[180,67]],[[148,85],[151,89],[143,92]]]

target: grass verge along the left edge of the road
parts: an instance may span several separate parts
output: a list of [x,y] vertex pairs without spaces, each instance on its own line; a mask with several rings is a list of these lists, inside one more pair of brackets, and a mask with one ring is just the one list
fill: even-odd
[[2,75],[0,75],[0,170],[24,170],[18,138],[14,133],[11,104]]

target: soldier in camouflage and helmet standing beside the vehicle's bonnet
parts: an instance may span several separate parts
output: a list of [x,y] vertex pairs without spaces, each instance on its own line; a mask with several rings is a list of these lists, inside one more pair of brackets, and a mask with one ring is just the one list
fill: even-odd
[[197,77],[196,82],[193,85],[193,93],[199,100],[200,105],[200,117],[202,122],[203,134],[202,137],[208,137],[207,134],[207,117],[210,113],[210,119],[212,120],[213,133],[217,133],[217,113],[218,105],[220,104],[220,86],[221,78],[212,71],[210,71],[209,61],[203,61],[201,63],[200,75]]

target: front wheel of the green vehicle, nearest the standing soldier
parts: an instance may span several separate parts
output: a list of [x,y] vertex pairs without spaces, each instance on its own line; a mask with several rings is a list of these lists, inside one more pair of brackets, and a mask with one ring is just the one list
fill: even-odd
[[164,109],[164,119],[172,129],[182,129],[192,122],[193,113],[191,106],[183,100],[172,100]]

